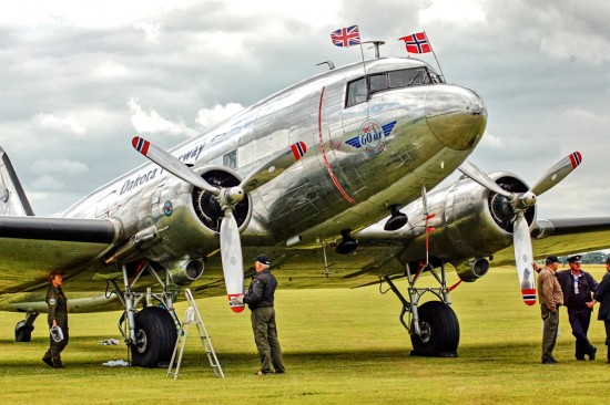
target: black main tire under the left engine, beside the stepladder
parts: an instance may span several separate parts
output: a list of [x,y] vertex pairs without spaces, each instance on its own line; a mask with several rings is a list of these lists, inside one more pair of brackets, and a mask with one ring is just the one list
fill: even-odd
[[131,345],[131,365],[157,367],[172,359],[177,331],[167,310],[149,307],[135,314],[135,344]]

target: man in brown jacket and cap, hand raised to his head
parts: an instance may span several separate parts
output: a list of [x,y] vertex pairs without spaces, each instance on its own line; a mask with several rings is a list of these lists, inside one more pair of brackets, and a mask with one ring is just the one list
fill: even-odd
[[559,305],[563,303],[563,293],[561,285],[555,277],[559,267],[557,256],[549,256],[542,269],[533,263],[533,270],[538,273],[537,287],[540,298],[540,312],[542,314],[542,364],[557,364],[552,356],[552,350],[557,342],[557,331],[559,329]]

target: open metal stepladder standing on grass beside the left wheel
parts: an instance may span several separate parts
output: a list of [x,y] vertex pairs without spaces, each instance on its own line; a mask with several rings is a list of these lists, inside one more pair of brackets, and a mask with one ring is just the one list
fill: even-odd
[[184,355],[184,347],[186,346],[186,338],[189,338],[189,329],[191,324],[194,324],[197,329],[199,338],[203,344],[203,350],[207,355],[207,362],[212,367],[215,376],[221,376],[224,378],[223,368],[216,357],[216,352],[214,352],[214,346],[201,318],[197,304],[193,298],[193,293],[190,289],[184,289],[184,295],[186,297],[186,302],[189,307],[184,311],[184,318],[181,323],[181,329],[177,334],[176,344],[174,346],[174,352],[172,354],[172,360],[170,361],[170,367],[167,368],[166,376],[173,375],[174,380],[177,378],[180,372],[180,365],[182,363],[182,356]]

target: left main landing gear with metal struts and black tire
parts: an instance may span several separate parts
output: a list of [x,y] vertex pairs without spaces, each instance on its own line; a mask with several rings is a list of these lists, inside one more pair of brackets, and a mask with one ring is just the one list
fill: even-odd
[[[162,280],[148,261],[138,264],[135,274],[128,276],[126,266],[123,264],[124,292],[121,291],[114,280],[112,292],[116,293],[125,311],[119,320],[119,330],[131,353],[131,365],[138,367],[157,367],[170,363],[177,340],[180,321],[174,312],[174,298],[177,291],[171,291],[170,274],[165,271],[165,280]],[[150,289],[143,292],[134,292],[133,285],[142,273],[148,270],[163,287],[162,293],[153,293]],[[151,307],[151,301],[156,300],[160,305]],[[142,302],[143,309],[136,311]]]

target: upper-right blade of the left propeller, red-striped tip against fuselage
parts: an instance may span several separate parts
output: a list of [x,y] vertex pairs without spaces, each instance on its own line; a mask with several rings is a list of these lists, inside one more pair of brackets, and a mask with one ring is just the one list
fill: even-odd
[[304,142],[292,144],[288,149],[272,156],[263,163],[258,168],[253,170],[246,178],[242,180],[240,187],[247,194],[253,189],[273,180],[284,170],[291,167],[296,160],[301,159],[307,153],[307,146]]

